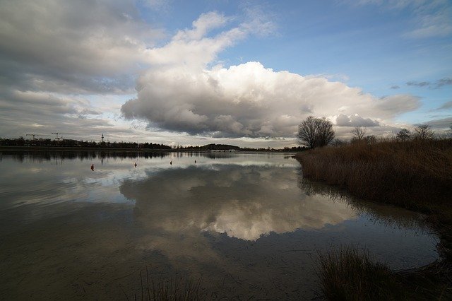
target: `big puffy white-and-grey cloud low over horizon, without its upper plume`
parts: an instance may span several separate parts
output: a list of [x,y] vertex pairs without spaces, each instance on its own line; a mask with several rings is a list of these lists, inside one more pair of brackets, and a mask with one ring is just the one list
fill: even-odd
[[420,105],[411,95],[376,99],[344,83],[275,72],[258,62],[198,72],[150,70],[137,90],[138,98],[121,107],[125,117],[216,137],[294,136],[297,124],[310,114],[359,114],[361,122],[375,126],[369,117],[391,119]]

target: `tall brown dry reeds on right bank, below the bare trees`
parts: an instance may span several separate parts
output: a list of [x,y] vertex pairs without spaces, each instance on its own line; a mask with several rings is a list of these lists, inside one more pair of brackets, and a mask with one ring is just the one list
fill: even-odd
[[303,176],[362,199],[432,212],[452,199],[452,139],[379,141],[297,154]]

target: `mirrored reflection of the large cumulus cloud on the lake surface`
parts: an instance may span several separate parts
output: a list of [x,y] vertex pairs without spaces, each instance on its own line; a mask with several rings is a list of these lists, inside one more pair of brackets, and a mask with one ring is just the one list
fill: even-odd
[[270,232],[319,229],[354,218],[346,203],[300,193],[287,168],[234,165],[181,168],[126,180],[120,191],[136,200],[136,213],[150,229],[213,231],[257,240]]

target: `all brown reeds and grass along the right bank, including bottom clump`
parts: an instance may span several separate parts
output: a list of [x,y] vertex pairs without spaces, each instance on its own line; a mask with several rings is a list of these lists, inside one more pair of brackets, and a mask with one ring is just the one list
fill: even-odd
[[443,260],[394,273],[354,249],[320,256],[323,293],[331,300],[452,297],[452,139],[362,141],[297,154],[303,176],[335,184],[360,199],[427,214]]

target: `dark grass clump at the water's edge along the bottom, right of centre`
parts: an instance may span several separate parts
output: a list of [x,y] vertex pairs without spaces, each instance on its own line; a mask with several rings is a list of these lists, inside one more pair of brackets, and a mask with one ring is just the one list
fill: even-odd
[[405,299],[398,279],[386,265],[352,247],[319,254],[319,273],[328,300]]

